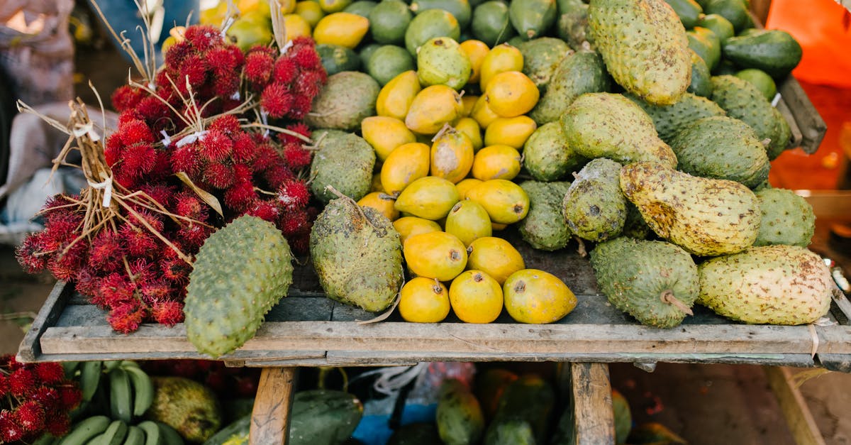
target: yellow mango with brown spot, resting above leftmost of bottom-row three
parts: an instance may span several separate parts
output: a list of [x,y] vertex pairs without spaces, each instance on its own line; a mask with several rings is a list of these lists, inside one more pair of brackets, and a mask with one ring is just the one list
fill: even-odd
[[428,232],[409,236],[402,246],[408,269],[417,276],[449,281],[464,271],[466,247],[454,234]]

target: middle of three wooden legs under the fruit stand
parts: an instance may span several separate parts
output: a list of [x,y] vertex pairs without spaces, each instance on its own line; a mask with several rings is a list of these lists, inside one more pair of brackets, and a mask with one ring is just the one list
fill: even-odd
[[565,363],[559,381],[565,409],[573,413],[573,432],[568,443],[598,445],[614,443],[612,384],[603,363]]

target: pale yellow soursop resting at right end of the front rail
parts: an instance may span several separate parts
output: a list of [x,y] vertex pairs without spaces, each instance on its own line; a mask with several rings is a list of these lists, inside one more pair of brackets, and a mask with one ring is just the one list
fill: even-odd
[[698,303],[732,320],[802,325],[831,307],[836,286],[825,262],[799,246],[755,246],[698,266]]

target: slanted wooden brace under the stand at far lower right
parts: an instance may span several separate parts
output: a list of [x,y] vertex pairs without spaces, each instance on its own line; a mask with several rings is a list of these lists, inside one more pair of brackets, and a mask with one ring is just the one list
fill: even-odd
[[791,381],[791,373],[785,367],[762,367],[780,410],[786,418],[789,430],[798,445],[824,445],[819,425],[813,419],[801,391]]

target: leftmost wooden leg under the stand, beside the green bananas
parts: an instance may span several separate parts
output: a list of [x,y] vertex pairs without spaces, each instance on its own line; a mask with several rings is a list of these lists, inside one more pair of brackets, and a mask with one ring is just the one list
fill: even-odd
[[250,445],[286,444],[293,405],[294,367],[264,367],[251,412]]

